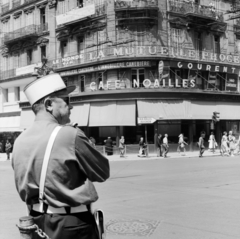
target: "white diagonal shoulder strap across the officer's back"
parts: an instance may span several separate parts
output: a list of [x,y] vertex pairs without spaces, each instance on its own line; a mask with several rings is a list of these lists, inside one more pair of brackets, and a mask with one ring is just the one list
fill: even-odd
[[43,158],[42,171],[41,171],[41,176],[40,176],[40,185],[39,185],[39,201],[40,201],[41,212],[43,212],[43,192],[44,192],[44,185],[45,185],[45,179],[46,179],[46,174],[47,174],[48,162],[49,162],[50,154],[52,151],[53,143],[54,143],[55,138],[61,128],[62,128],[61,126],[57,126],[53,130],[53,132],[48,140],[47,148],[46,148],[45,155]]

